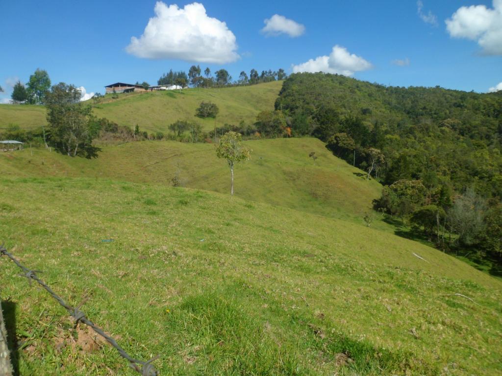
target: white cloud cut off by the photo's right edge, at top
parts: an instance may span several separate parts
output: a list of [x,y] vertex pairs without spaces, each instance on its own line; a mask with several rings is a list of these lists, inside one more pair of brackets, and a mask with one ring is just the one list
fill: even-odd
[[476,41],[486,55],[502,55],[502,0],[493,0],[493,9],[461,7],[445,23],[450,37]]

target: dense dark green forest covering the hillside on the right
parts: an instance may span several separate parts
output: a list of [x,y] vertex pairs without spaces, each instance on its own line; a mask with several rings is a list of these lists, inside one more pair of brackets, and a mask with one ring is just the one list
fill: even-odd
[[[375,209],[408,221],[442,248],[475,248],[500,260],[502,92],[301,73],[284,82],[275,107],[293,135],[322,139],[387,185]],[[445,232],[453,234],[449,242]]]

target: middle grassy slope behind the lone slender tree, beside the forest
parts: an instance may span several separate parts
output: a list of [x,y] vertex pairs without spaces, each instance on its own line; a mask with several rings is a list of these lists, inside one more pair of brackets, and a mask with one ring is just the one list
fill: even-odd
[[[237,197],[310,213],[362,221],[382,187],[333,156],[315,138],[246,141],[252,160],[235,169]],[[309,153],[315,151],[314,161]],[[32,155],[33,154],[33,155]],[[68,158],[43,149],[0,153],[3,176],[90,176],[229,192],[229,169],[212,144],[175,141],[103,146],[96,159]]]

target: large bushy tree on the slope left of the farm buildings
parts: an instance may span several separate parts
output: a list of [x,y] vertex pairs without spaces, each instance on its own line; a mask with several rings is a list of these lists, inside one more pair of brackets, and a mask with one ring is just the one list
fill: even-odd
[[60,82],[44,94],[44,101],[54,146],[69,156],[83,150],[89,157],[95,154],[92,139],[98,136],[99,128],[95,126],[91,108],[80,103],[80,96],[75,86]]

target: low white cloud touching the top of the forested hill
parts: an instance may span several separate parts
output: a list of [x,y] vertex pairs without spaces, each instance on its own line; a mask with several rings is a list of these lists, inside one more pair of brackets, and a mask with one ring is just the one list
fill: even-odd
[[352,76],[355,72],[366,71],[371,63],[360,56],[351,54],[345,47],[336,45],[329,56],[319,56],[306,63],[293,65],[293,73],[324,72]]

